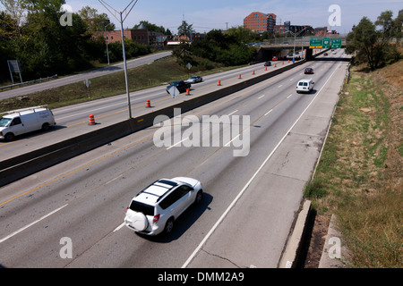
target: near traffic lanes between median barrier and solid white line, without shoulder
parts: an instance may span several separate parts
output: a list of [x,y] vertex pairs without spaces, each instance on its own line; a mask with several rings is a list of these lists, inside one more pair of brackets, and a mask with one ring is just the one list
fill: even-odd
[[[323,68],[313,75],[315,88],[319,90],[339,63],[314,64],[318,64],[319,70]],[[235,157],[234,148],[223,147],[224,144],[155,147],[152,136],[159,130],[156,126],[0,189],[0,264],[6,267],[183,265],[314,97],[314,94],[296,95],[298,79],[288,85],[272,80],[188,113],[251,116],[248,156]],[[171,237],[150,239],[120,227],[125,207],[139,190],[150,181],[176,175],[201,180],[205,196],[201,206],[193,207],[179,219]],[[281,198],[272,198],[270,204],[289,207],[294,214],[299,200],[294,198],[291,207],[284,205]],[[275,224],[280,237],[288,233],[293,218],[288,214],[282,218],[284,221]],[[270,217],[264,219],[274,225]],[[72,240],[73,258],[60,257],[63,248],[60,240],[64,237]],[[270,248],[276,252],[270,257],[279,257],[284,242],[271,246],[277,249]]]

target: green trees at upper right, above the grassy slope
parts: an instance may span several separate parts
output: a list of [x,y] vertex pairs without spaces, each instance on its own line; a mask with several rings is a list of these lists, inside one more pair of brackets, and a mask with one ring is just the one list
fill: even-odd
[[403,13],[393,19],[391,11],[382,12],[376,21],[363,17],[347,35],[346,52],[355,55],[353,63],[367,63],[373,71],[399,61]]

